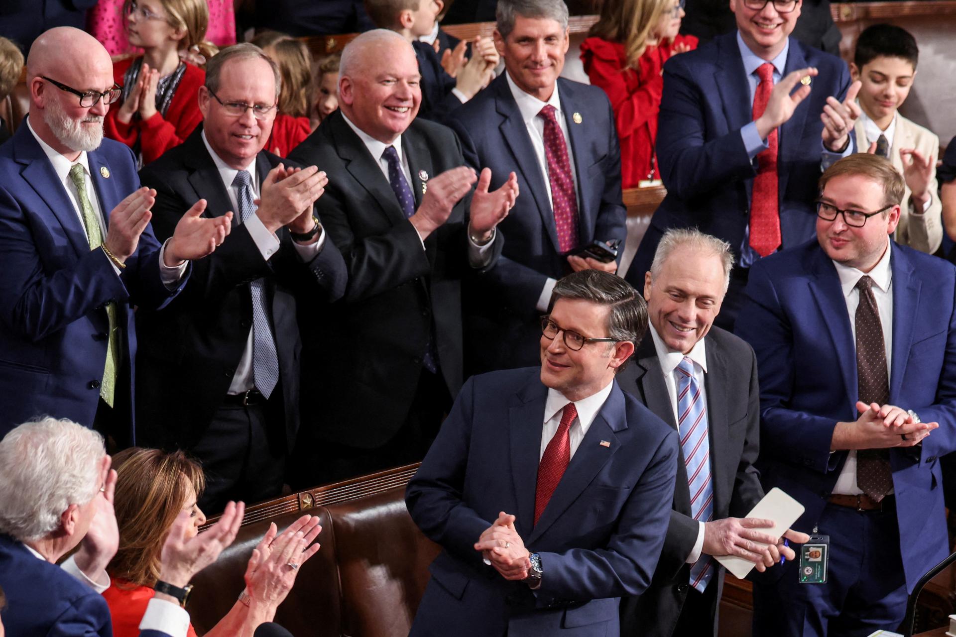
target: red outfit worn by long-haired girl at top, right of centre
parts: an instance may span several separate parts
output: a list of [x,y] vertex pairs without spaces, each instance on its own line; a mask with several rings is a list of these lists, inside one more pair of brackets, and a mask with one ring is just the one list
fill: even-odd
[[625,68],[624,45],[599,37],[581,43],[581,61],[591,83],[611,99],[620,138],[620,175],[624,188],[636,188],[651,169],[660,179],[654,143],[663,92],[663,63],[673,48],[685,44],[697,48],[693,35],[678,35],[670,44],[650,46],[638,59],[638,70]]

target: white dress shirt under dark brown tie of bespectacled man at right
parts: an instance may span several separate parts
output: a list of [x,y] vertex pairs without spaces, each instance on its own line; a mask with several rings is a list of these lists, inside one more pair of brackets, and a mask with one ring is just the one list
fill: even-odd
[[[853,342],[857,342],[857,306],[859,305],[859,290],[857,283],[864,274],[873,279],[873,297],[877,301],[880,312],[880,327],[883,330],[883,345],[886,348],[886,377],[889,378],[893,369],[893,270],[890,268],[889,239],[886,240],[886,251],[883,252],[880,262],[869,272],[861,272],[856,267],[837,264],[836,274],[839,275],[843,298],[846,299],[846,309],[850,314],[850,329],[853,332]],[[856,349],[854,350],[856,351]],[[856,361],[855,361],[856,362]],[[855,388],[852,388],[855,389]],[[851,391],[852,391],[851,389]],[[836,478],[833,493],[857,496],[862,492],[857,484],[857,452],[851,450],[843,463],[843,469]],[[893,493],[891,490],[890,493]]]

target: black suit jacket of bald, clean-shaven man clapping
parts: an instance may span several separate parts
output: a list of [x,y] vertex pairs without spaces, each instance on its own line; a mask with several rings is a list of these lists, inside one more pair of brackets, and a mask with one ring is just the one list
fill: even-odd
[[[455,135],[417,118],[402,135],[415,204],[427,180],[465,164]],[[374,449],[402,427],[411,408],[429,332],[448,393],[462,387],[461,280],[467,260],[467,202],[424,241],[405,219],[395,193],[340,111],[322,121],[290,156],[329,175],[316,203],[345,258],[342,302],[316,317],[305,340],[303,382],[323,405],[322,439]],[[501,252],[498,232],[493,258]]]

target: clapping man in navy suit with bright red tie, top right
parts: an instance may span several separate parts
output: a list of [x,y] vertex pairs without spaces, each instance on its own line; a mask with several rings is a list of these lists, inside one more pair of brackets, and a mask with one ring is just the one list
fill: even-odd
[[821,161],[852,151],[859,85],[838,57],[790,37],[801,7],[731,0],[735,32],[664,66],[657,159],[667,196],[626,278],[643,286],[668,228],[696,226],[727,241],[738,267],[717,317],[725,329],[750,265],[813,236]]

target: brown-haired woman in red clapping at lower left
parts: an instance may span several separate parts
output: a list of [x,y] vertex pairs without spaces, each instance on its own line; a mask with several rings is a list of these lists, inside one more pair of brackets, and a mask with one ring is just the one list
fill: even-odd
[[[182,451],[171,454],[133,447],[113,458],[117,470],[114,496],[120,549],[106,567],[110,587],[103,593],[110,607],[115,637],[137,637],[146,605],[160,574],[163,542],[177,516],[189,511],[194,538],[206,516],[196,505],[205,485],[203,470]],[[226,617],[206,635],[251,637],[256,626],[271,622],[275,609],[292,590],[298,568],[318,551],[318,518],[302,516],[281,535],[275,524],[252,551],[246,590]],[[189,626],[189,637],[196,633]]]

